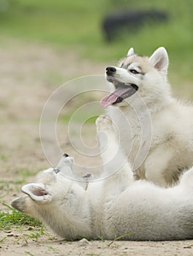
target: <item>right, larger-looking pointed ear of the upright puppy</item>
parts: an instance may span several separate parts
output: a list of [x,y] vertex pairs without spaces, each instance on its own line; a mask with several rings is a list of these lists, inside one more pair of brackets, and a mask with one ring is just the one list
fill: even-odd
[[162,73],[162,75],[164,75],[164,77],[166,77],[169,59],[167,51],[164,47],[160,47],[155,50],[149,58],[149,61],[155,69],[157,69],[159,72]]

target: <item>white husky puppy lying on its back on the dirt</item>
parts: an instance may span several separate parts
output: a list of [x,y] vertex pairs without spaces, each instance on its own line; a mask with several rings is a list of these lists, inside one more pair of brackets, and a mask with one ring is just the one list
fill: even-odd
[[[111,121],[99,117],[96,122],[99,143],[106,132],[109,144],[102,154],[108,162],[118,147]],[[123,159],[121,151],[118,159]],[[26,196],[12,201],[23,213],[41,219],[58,236],[66,239],[88,238],[125,240],[174,240],[193,238],[193,170],[188,170],[177,186],[156,187],[148,181],[134,181],[129,165],[106,179],[89,182],[87,189],[64,173],[72,173],[72,157],[64,154],[56,169],[37,175],[26,184]],[[113,167],[114,167],[114,163]],[[106,172],[110,165],[106,165]],[[155,170],[156,171],[156,170]],[[124,236],[125,235],[125,236]]]

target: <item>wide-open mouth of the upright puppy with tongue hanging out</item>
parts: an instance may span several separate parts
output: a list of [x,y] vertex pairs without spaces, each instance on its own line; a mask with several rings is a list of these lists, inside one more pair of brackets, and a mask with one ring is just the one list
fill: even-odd
[[118,80],[113,80],[107,78],[110,83],[116,87],[116,91],[113,91],[112,94],[109,94],[101,99],[100,105],[102,108],[106,108],[109,105],[115,105],[122,102],[124,99],[132,96],[138,90],[138,86],[134,83],[121,83]]

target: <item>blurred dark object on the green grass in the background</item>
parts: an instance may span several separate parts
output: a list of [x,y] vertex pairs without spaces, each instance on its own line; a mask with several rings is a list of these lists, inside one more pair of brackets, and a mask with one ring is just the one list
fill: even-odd
[[167,19],[167,13],[159,10],[124,10],[107,15],[102,22],[102,29],[107,41],[111,41],[116,39],[121,31],[135,32],[145,23],[163,22]]

